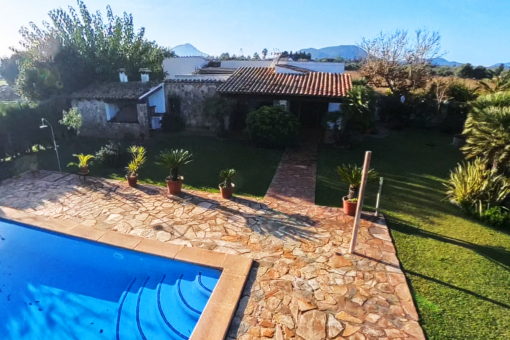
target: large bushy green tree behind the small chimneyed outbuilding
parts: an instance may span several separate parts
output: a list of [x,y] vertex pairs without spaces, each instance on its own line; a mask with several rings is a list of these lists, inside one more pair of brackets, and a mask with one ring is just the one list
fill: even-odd
[[114,16],[107,6],[106,22],[100,12],[91,14],[83,1],[78,11],[56,9],[51,22],[40,29],[34,23],[22,27],[24,53],[17,87],[24,97],[41,100],[52,94],[70,93],[94,82],[118,79],[125,68],[139,80],[140,68],[149,68],[156,79],[164,77],[163,60],[170,50],[145,38],[145,29],[135,32],[133,16]]

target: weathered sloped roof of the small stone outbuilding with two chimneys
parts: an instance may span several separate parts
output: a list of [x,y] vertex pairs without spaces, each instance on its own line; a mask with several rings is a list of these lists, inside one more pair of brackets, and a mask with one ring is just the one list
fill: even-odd
[[127,83],[111,82],[92,84],[82,90],[72,93],[69,97],[73,99],[127,99],[138,100],[145,93],[151,92],[159,87],[159,82],[131,81]]

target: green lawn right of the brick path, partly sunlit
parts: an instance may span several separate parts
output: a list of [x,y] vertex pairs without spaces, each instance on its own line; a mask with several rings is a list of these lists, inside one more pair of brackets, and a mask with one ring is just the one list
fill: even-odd
[[[347,186],[335,167],[361,166],[371,150],[371,166],[384,177],[382,212],[428,338],[510,339],[510,236],[443,201],[442,183],[462,159],[450,142],[450,136],[407,130],[352,150],[321,147],[316,203],[340,206]],[[367,210],[377,187],[368,187]]]

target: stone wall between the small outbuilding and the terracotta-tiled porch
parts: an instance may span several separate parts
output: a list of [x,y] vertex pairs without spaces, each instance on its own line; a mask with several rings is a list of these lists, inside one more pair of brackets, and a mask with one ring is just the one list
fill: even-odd
[[[204,99],[213,96],[221,85],[219,81],[174,81],[165,84],[166,96],[176,96],[180,100],[180,115],[187,129],[209,130],[216,125],[211,117],[204,116]],[[169,107],[167,105],[167,107]],[[172,113],[172,112],[170,112]]]

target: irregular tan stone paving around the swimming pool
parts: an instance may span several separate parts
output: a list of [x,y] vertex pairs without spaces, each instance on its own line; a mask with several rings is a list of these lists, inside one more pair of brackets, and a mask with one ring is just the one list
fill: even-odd
[[425,339],[384,219],[364,216],[350,255],[351,217],[276,194],[174,197],[163,188],[40,171],[2,182],[0,206],[255,259],[230,340]]

